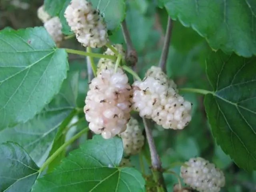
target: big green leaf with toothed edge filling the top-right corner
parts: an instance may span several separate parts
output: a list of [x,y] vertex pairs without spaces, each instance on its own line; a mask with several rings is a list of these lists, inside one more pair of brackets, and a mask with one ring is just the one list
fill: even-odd
[[[256,54],[256,2],[164,0],[172,19],[191,26],[210,46],[241,56]],[[241,38],[242,37],[242,38]]]

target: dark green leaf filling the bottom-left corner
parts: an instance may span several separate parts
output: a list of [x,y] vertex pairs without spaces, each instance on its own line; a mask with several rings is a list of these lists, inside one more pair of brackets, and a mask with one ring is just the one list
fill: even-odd
[[30,192],[38,166],[27,152],[13,142],[0,144],[0,191]]

